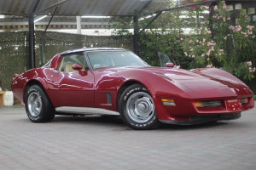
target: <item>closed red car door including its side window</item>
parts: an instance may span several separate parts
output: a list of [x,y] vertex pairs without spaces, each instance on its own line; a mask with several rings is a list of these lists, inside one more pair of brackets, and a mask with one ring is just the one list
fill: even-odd
[[[83,73],[72,69],[73,64],[83,65]],[[85,71],[84,54],[62,56],[58,70],[49,70],[49,98],[55,107],[59,106],[94,106],[94,75]]]

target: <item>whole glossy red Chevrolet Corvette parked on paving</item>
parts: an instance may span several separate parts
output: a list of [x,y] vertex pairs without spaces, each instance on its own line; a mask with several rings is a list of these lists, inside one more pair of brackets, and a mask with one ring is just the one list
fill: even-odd
[[252,90],[226,71],[167,66],[152,67],[125,49],[83,48],[15,74],[11,88],[32,122],[49,122],[63,107],[89,107],[118,111],[131,128],[152,129],[160,122],[237,119],[254,106]]

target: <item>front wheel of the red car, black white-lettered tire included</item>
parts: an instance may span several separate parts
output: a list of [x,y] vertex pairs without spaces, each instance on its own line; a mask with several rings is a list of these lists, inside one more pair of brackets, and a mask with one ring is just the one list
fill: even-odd
[[136,130],[154,129],[160,125],[154,100],[142,84],[126,88],[119,99],[120,116],[128,127]]

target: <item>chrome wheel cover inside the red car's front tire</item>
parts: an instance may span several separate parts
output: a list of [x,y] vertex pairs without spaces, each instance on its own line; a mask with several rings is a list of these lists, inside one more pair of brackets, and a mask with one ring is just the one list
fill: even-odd
[[154,116],[154,101],[149,94],[137,92],[127,100],[126,111],[132,121],[148,122]]

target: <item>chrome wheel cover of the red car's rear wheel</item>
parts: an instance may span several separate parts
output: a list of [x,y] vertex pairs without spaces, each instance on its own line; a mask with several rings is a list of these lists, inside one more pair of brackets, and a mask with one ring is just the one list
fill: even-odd
[[38,93],[32,92],[29,94],[27,98],[27,108],[32,116],[37,117],[40,115],[42,110],[42,99]]

